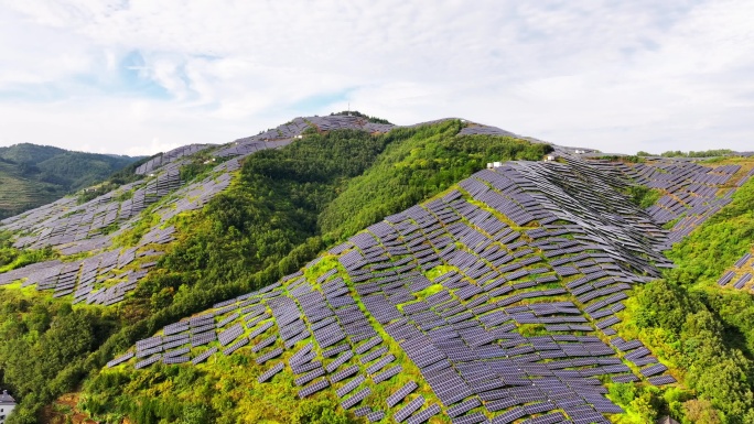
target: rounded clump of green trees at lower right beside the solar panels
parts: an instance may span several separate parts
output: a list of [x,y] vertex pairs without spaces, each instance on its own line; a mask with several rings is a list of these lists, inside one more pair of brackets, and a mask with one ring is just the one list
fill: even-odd
[[[686,409],[709,402],[711,407],[703,413],[724,423],[754,420],[754,367],[748,352],[735,347],[703,293],[658,280],[638,287],[626,306],[622,334],[638,337],[682,377],[693,391],[686,402],[697,400]],[[685,409],[678,406],[672,409],[682,417]]]

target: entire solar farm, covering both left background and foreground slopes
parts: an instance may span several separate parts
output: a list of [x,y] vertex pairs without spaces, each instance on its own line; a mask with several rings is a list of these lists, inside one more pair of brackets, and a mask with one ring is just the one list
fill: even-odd
[[[174,217],[225,191],[245,156],[311,128],[394,127],[297,118],[225,145],[157,156],[136,170],[144,175],[137,183],[0,221],[18,248],[88,253],[2,273],[0,285],[52,291],[74,304],[123,302],[175,240]],[[461,134],[510,135],[478,124]],[[208,367],[247,356],[259,383],[288,376],[299,398],[333,393],[367,422],[608,423],[624,411],[606,398],[605,382],[677,383],[642,341],[615,328],[624,301],[672,268],[663,252],[728,205],[754,171],[588,160],[554,148],[557,161],[482,170],[272,285],[165,325],[107,368]],[[182,182],[181,166],[197,153],[217,165]],[[624,194],[634,185],[663,195],[642,209]],[[136,246],[119,246],[148,209],[159,224]],[[747,253],[718,283],[748,286],[753,264]]]

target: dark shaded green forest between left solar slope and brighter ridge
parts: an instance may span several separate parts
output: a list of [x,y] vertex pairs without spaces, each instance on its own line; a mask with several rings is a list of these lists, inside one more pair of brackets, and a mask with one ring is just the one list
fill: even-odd
[[[254,271],[269,270],[265,283],[281,276],[280,268],[292,272],[298,263],[278,262],[317,236],[320,209],[371,164],[384,143],[365,132],[333,131],[249,156],[238,184],[217,196],[198,220],[192,219],[188,237],[165,258],[165,265],[198,272],[197,283],[212,286]],[[312,242],[317,249],[309,256],[323,247]]]

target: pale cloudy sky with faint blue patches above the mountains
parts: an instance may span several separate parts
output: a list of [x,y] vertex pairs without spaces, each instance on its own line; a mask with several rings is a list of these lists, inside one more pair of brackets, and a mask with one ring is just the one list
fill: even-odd
[[754,1],[0,0],[0,145],[151,154],[352,109],[754,150]]

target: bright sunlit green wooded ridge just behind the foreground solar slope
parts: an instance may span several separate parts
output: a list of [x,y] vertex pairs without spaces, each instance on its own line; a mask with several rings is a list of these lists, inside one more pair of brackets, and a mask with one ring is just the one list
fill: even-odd
[[513,138],[454,137],[460,130],[460,122],[450,121],[420,129],[395,129],[384,135],[391,141],[385,154],[373,168],[354,178],[320,216],[319,225],[327,242],[444,191],[484,168],[487,162],[536,161],[551,149],[549,144]]

